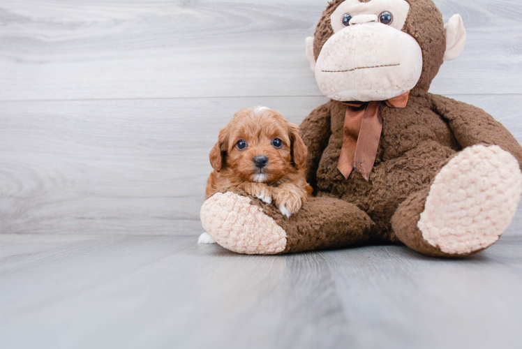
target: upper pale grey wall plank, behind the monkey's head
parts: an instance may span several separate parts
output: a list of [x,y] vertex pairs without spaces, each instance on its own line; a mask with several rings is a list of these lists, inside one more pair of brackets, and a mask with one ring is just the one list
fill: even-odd
[[[326,0],[0,3],[0,101],[320,96],[304,55]],[[437,0],[468,44],[438,94],[522,93],[518,0]]]

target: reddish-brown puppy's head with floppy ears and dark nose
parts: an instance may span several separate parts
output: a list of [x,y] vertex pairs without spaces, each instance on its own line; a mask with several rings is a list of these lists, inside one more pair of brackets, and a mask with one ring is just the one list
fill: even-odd
[[219,132],[210,152],[214,170],[228,168],[244,181],[274,183],[306,165],[306,146],[296,125],[267,107],[239,110]]

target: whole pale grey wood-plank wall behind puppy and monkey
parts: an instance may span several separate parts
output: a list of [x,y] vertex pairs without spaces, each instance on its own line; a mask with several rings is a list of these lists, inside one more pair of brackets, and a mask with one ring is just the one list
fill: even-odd
[[[522,141],[521,1],[435,2],[468,43],[431,91]],[[299,124],[326,101],[304,55],[326,3],[2,1],[0,233],[202,232],[207,154],[233,112]]]

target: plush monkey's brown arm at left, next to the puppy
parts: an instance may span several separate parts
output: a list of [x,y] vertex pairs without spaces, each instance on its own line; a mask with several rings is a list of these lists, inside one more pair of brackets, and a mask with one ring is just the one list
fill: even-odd
[[321,105],[306,117],[299,126],[299,133],[308,147],[306,156],[306,180],[317,188],[317,171],[322,152],[328,145],[331,135],[329,103]]

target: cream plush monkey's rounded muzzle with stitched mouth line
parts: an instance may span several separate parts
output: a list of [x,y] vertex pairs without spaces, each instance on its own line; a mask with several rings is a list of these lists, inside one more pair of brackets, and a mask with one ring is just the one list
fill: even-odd
[[415,87],[422,51],[412,36],[380,23],[350,25],[322,47],[315,80],[336,101],[385,101]]

